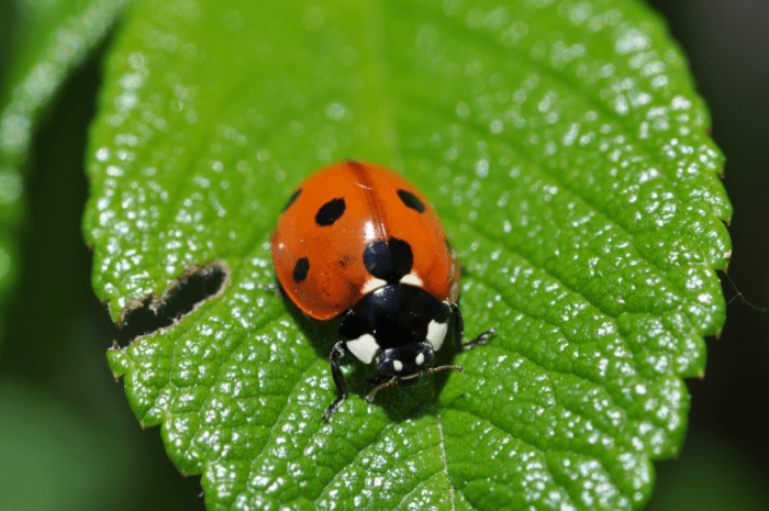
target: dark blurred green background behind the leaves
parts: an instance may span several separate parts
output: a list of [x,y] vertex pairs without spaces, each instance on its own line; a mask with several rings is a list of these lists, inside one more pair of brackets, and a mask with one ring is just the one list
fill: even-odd
[[[767,306],[769,279],[769,5],[766,0],[654,0],[691,60],[727,157],[734,204],[728,275]],[[15,12],[0,0],[0,81]],[[108,43],[109,44],[109,41]],[[36,134],[25,184],[22,275],[0,343],[0,510],[203,509],[142,431],[104,353],[119,334],[90,287],[80,216],[86,133],[101,51],[67,81]],[[726,325],[709,340],[703,380],[689,380],[690,433],[677,460],[658,463],[651,510],[769,509],[769,314],[722,278]]]

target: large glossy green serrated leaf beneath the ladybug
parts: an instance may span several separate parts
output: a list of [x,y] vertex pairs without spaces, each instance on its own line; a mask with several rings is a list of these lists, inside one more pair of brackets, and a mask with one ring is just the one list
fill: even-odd
[[[631,1],[161,2],[107,58],[87,155],[115,320],[204,265],[223,289],[109,353],[209,509],[638,509],[724,322],[731,205],[686,59]],[[290,189],[403,171],[466,273],[464,374],[337,396],[335,324],[266,289]],[[211,266],[212,265],[212,266]]]

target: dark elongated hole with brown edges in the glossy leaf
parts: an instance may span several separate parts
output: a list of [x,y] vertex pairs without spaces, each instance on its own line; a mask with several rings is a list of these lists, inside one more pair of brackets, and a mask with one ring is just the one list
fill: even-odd
[[129,300],[121,313],[115,342],[122,346],[178,323],[207,300],[221,296],[229,281],[230,268],[223,260],[188,266],[163,296]]

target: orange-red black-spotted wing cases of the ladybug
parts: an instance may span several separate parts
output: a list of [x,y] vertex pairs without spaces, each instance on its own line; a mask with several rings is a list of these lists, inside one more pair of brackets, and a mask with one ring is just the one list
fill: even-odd
[[392,240],[413,257],[400,282],[456,303],[459,264],[435,209],[404,177],[372,163],[334,163],[300,184],[272,233],[272,262],[299,309],[331,320],[387,284],[367,268],[364,252]]

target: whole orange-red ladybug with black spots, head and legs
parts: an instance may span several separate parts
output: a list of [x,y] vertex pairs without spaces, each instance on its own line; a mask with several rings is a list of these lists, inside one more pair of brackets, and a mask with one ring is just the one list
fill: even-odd
[[376,364],[378,385],[408,387],[431,368],[455,318],[454,344],[486,344],[489,330],[462,344],[457,306],[459,263],[433,205],[402,176],[380,165],[344,160],[308,177],[289,197],[271,238],[283,292],[320,321],[343,316],[331,352],[342,406],[349,389],[338,366],[350,355]]

